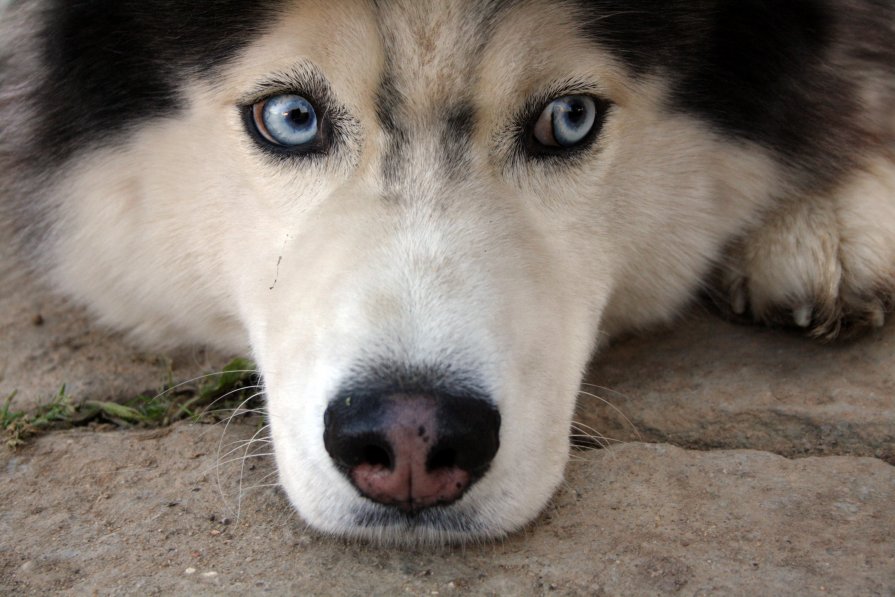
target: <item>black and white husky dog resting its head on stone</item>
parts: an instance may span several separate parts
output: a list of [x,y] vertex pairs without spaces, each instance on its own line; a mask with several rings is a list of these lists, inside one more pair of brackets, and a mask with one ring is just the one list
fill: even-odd
[[250,350],[324,532],[499,537],[601,338],[895,289],[892,0],[13,0],[0,193],[106,324]]

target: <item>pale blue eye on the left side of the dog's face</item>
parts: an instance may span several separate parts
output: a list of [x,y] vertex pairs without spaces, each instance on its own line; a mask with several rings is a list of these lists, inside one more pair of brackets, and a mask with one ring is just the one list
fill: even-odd
[[255,128],[262,137],[286,148],[309,145],[320,135],[317,112],[300,95],[275,95],[252,106]]

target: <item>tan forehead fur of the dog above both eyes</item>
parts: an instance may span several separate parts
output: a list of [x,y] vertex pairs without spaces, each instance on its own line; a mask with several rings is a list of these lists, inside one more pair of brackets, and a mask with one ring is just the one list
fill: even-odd
[[584,12],[564,0],[299,0],[249,50],[241,83],[310,62],[348,101],[390,95],[406,115],[443,114],[524,96],[582,68],[608,71]]

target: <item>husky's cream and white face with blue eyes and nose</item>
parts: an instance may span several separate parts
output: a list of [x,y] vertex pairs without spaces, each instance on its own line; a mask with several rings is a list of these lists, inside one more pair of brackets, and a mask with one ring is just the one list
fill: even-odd
[[725,168],[764,168],[582,10],[289,3],[183,81],[181,113],[78,163],[56,277],[116,323],[139,301],[146,337],[247,337],[313,526],[519,528],[560,482],[598,338],[674,312],[754,207]]

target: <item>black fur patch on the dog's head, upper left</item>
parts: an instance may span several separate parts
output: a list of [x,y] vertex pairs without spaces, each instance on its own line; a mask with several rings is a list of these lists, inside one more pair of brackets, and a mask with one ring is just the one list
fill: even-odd
[[226,62],[275,21],[281,2],[52,0],[42,51],[38,147],[64,160],[181,107],[178,85]]

